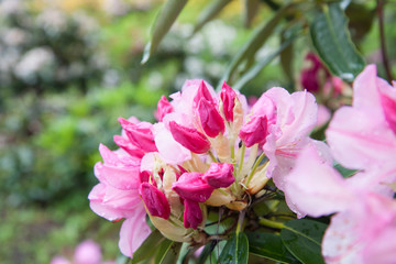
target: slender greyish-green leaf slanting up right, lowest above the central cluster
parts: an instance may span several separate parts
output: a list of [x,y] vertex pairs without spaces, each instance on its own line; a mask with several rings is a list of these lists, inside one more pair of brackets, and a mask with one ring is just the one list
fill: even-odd
[[256,77],[260,72],[263,70],[276,56],[279,55],[287,46],[289,46],[295,37],[289,38],[288,41],[285,41],[275,52],[270,54],[267,57],[265,57],[263,61],[257,63],[254,67],[252,67],[250,70],[248,70],[238,81],[232,86],[234,90],[240,90],[242,87],[244,87],[249,81],[251,81],[254,77]]

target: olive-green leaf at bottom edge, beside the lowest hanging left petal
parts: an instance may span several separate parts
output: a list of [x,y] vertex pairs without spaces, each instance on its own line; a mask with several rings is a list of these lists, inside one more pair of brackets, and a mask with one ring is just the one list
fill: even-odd
[[150,260],[148,256],[154,256],[160,244],[166,239],[158,230],[154,230],[148,238],[141,244],[141,246],[133,253],[132,264],[145,263]]

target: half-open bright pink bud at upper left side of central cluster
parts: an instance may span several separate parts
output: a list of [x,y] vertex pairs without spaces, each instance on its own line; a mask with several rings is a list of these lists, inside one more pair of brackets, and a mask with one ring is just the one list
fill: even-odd
[[134,124],[123,118],[119,118],[119,122],[121,123],[121,127],[125,131],[130,141],[136,146],[141,147],[143,152],[157,151],[154,142],[154,135],[151,131],[151,123],[140,122]]

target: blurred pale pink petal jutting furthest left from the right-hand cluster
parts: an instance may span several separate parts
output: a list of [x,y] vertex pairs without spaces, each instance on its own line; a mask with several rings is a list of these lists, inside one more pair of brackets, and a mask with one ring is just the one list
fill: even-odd
[[342,176],[308,145],[286,177],[286,201],[298,216],[321,217],[345,210],[353,195]]

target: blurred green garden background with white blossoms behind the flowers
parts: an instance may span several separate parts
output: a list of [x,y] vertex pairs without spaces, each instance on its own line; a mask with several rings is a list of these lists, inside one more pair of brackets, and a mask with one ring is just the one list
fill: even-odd
[[[87,199],[97,183],[92,167],[101,160],[99,143],[116,150],[119,117],[154,121],[161,96],[177,91],[188,78],[216,87],[255,28],[289,1],[190,0],[142,65],[163,2],[0,0],[0,263],[73,258],[75,246],[87,239],[101,245],[105,260],[119,258],[120,223],[96,216]],[[202,10],[212,2],[223,6],[200,26]],[[365,62],[376,64],[384,78],[395,76],[396,1],[383,2],[384,37],[381,1],[341,2],[348,2],[349,32]],[[274,28],[248,59],[252,65],[268,61],[240,87],[251,100],[274,86],[307,88],[301,70],[310,67],[306,56],[316,50],[298,18],[314,15],[286,18],[286,26]],[[300,35],[279,51],[295,28]],[[268,59],[274,52],[278,56]]]

